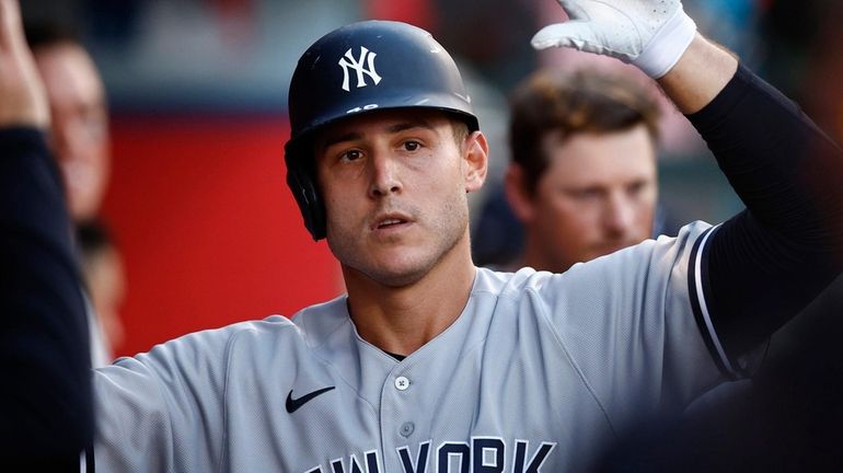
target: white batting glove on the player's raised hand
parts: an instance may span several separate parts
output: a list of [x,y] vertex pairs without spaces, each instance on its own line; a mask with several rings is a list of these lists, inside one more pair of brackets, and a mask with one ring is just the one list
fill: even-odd
[[658,79],[696,34],[680,0],[557,0],[570,21],[543,27],[536,49],[573,47],[630,62]]

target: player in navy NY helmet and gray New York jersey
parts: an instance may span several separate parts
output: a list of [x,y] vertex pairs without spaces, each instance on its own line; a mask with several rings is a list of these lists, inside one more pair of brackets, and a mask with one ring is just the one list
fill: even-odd
[[678,0],[562,5],[573,20],[533,45],[657,79],[748,211],[563,274],[477,268],[465,195],[487,146],[453,60],[407,24],[340,27],[293,73],[286,162],[347,295],[97,370],[96,466],[582,471],[636,419],[741,376],[841,270],[843,152]]

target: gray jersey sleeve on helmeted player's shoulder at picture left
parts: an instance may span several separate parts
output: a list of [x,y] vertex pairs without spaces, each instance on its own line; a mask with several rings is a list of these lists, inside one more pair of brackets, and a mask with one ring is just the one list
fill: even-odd
[[217,471],[227,359],[236,332],[205,331],[94,374],[101,471]]

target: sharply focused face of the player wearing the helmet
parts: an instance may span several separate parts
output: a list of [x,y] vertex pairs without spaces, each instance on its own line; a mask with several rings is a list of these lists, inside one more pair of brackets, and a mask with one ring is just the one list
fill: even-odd
[[450,118],[418,109],[369,113],[321,134],[327,242],[346,278],[399,287],[453,254],[470,261],[466,193],[483,184],[486,143],[480,132],[459,141]]

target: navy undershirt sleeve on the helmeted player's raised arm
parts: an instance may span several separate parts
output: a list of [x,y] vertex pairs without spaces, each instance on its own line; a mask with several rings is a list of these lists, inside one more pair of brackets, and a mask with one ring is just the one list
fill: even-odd
[[747,210],[712,235],[703,288],[730,360],[805,308],[843,265],[843,151],[742,66],[689,119]]

